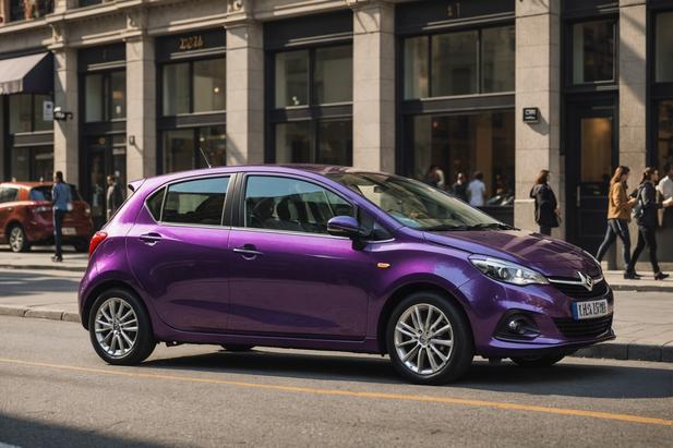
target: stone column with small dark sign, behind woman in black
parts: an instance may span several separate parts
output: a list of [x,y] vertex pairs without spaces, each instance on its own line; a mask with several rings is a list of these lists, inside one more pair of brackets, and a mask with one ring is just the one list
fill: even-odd
[[[516,199],[514,222],[538,229],[529,197],[541,169],[552,172],[551,186],[564,211],[564,165],[560,154],[560,9],[561,0],[516,2]],[[525,107],[540,109],[540,122],[522,122]],[[554,229],[564,238],[565,228]]]

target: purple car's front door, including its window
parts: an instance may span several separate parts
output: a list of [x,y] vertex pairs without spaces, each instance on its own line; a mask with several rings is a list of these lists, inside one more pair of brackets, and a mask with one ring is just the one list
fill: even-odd
[[316,183],[265,174],[248,175],[241,197],[228,245],[228,330],[362,339],[375,262],[326,230],[352,205]]

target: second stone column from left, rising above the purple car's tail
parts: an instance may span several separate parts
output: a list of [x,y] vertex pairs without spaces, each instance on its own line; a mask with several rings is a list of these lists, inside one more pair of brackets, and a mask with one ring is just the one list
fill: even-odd
[[127,39],[127,179],[156,173],[156,69],[154,39]]

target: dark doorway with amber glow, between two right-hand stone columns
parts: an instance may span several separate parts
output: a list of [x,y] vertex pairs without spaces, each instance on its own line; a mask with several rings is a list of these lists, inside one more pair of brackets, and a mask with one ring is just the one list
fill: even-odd
[[610,178],[618,160],[612,100],[570,104],[566,133],[568,241],[596,254],[608,225]]

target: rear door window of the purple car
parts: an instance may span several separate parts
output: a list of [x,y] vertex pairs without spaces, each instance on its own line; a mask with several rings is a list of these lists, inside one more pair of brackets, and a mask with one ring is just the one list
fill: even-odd
[[221,225],[228,184],[229,178],[225,177],[190,180],[168,185],[161,221],[203,226]]

